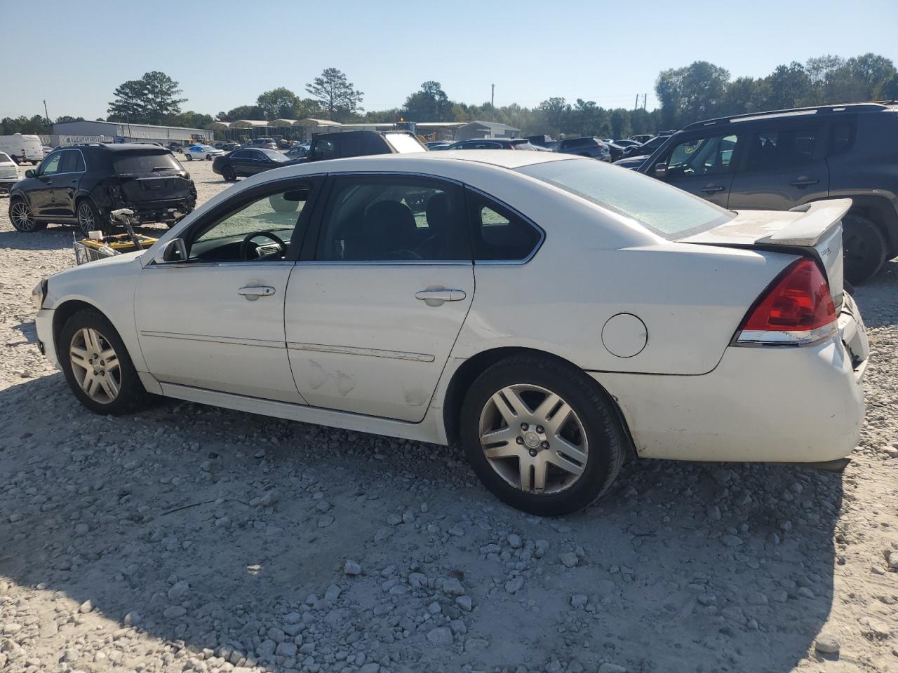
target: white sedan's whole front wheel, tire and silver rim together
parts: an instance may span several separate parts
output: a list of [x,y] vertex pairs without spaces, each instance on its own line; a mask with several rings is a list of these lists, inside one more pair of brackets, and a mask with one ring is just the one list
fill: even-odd
[[57,340],[59,363],[69,388],[95,414],[136,411],[146,391],[128,350],[109,320],[80,310],[66,320]]

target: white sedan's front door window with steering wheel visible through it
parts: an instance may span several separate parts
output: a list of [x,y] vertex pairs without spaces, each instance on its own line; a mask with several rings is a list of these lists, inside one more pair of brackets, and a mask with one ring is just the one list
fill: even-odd
[[235,206],[195,232],[189,259],[262,261],[283,259],[309,199],[308,185],[292,185]]

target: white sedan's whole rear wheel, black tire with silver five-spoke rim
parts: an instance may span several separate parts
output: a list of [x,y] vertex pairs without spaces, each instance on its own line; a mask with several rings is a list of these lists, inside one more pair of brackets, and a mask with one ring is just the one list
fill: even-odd
[[540,516],[583,509],[612,485],[626,436],[594,380],[522,355],[480,374],[462,404],[471,468],[500,500]]

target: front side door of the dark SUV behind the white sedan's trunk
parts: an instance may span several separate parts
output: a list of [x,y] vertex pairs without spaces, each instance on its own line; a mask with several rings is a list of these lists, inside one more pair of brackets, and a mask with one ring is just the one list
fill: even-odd
[[730,132],[684,139],[665,152],[648,169],[656,177],[656,167],[665,164],[664,179],[674,187],[727,207],[733,183],[739,136]]

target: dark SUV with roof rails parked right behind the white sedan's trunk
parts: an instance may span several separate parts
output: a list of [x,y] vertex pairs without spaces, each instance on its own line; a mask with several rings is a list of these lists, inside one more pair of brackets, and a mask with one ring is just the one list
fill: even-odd
[[898,255],[898,106],[776,110],[685,127],[637,170],[730,210],[788,210],[850,197],[845,277]]

